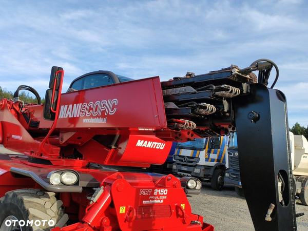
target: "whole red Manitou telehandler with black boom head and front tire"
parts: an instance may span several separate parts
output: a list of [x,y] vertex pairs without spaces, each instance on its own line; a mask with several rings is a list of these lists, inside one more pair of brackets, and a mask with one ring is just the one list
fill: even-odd
[[[0,231],[212,231],[187,200],[200,193],[199,180],[114,168],[159,165],[172,142],[235,130],[255,229],[297,230],[286,99],[273,89],[278,74],[269,60],[167,82],[100,70],[61,94],[64,70],[52,67],[44,104],[26,85],[0,101],[0,144],[24,154],[0,155]],[[20,90],[38,103],[20,101]]]

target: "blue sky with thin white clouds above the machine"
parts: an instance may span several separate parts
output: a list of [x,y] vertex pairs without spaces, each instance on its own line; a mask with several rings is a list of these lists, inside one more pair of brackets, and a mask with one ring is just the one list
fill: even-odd
[[307,126],[307,12],[304,0],[0,0],[0,86],[26,84],[44,97],[52,66],[65,69],[66,90],[99,69],[166,81],[270,59],[290,126]]

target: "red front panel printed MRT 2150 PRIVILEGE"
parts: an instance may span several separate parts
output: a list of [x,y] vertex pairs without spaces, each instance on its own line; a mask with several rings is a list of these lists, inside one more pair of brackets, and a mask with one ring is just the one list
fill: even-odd
[[[178,180],[172,178],[170,181],[173,184]],[[191,208],[181,188],[164,185],[131,187],[127,181],[119,179],[114,182],[111,195],[121,230],[187,230],[190,224]],[[185,208],[182,209],[181,205]],[[162,210],[159,218],[158,213]]]

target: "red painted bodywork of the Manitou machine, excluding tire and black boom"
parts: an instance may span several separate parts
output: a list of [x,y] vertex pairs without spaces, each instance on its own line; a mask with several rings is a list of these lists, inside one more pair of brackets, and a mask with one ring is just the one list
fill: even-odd
[[[46,120],[43,105],[25,110],[20,102],[1,100],[1,143],[28,158],[0,155],[0,197],[19,188],[57,192],[69,219],[79,222],[62,230],[214,230],[191,213],[176,177],[100,166],[149,167],[166,160],[179,130],[168,128],[158,77],[64,93],[57,104],[51,107],[55,120]],[[76,172],[79,182],[52,185],[50,173],[59,169]],[[95,203],[86,198],[91,187],[103,191]]]

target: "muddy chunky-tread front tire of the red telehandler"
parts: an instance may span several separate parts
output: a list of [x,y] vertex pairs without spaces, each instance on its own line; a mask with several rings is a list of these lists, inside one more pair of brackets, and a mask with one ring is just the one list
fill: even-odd
[[[64,213],[62,204],[61,200],[55,198],[54,192],[41,189],[9,191],[0,199],[0,231],[48,231],[55,226],[63,227],[68,215]],[[14,220],[18,221],[15,225]],[[33,225],[27,225],[28,221],[33,221]],[[11,225],[7,226],[6,223]]]

